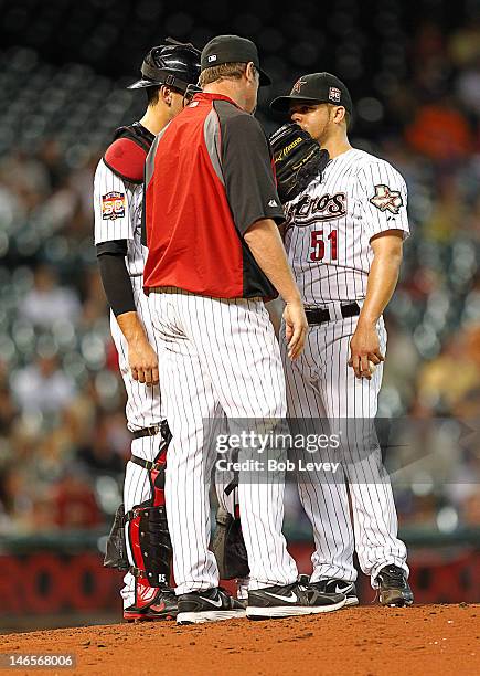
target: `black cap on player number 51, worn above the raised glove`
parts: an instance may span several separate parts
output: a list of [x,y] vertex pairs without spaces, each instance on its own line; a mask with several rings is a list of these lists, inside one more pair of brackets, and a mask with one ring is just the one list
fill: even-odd
[[335,106],[343,106],[350,114],[353,112],[349,89],[341,80],[331,73],[302,75],[291,87],[288,96],[277,96],[277,98],[274,98],[270,103],[270,108],[277,113],[288,113],[294,103],[330,103]]

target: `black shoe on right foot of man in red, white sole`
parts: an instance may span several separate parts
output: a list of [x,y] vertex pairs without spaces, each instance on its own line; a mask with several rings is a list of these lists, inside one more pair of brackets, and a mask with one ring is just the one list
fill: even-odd
[[266,587],[248,592],[247,617],[267,620],[329,613],[345,605],[343,594],[324,594],[310,584]]

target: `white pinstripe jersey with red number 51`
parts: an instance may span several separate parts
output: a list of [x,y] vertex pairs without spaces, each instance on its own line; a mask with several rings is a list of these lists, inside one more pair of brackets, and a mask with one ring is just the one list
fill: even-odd
[[365,298],[372,236],[409,233],[404,179],[356,148],[330,160],[321,180],[287,202],[286,216],[288,258],[307,307]]

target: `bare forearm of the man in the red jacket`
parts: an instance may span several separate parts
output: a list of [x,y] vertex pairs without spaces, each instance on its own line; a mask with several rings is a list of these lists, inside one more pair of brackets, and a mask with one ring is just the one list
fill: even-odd
[[300,292],[294,278],[275,221],[254,223],[245,233],[245,242],[258,266],[286,303],[299,303]]

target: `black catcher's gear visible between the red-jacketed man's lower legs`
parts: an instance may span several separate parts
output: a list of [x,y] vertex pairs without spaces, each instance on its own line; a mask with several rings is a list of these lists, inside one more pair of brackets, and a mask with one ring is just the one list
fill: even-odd
[[242,534],[241,520],[218,507],[216,513],[216,530],[212,540],[212,551],[215,554],[222,580],[247,578],[247,550]]

